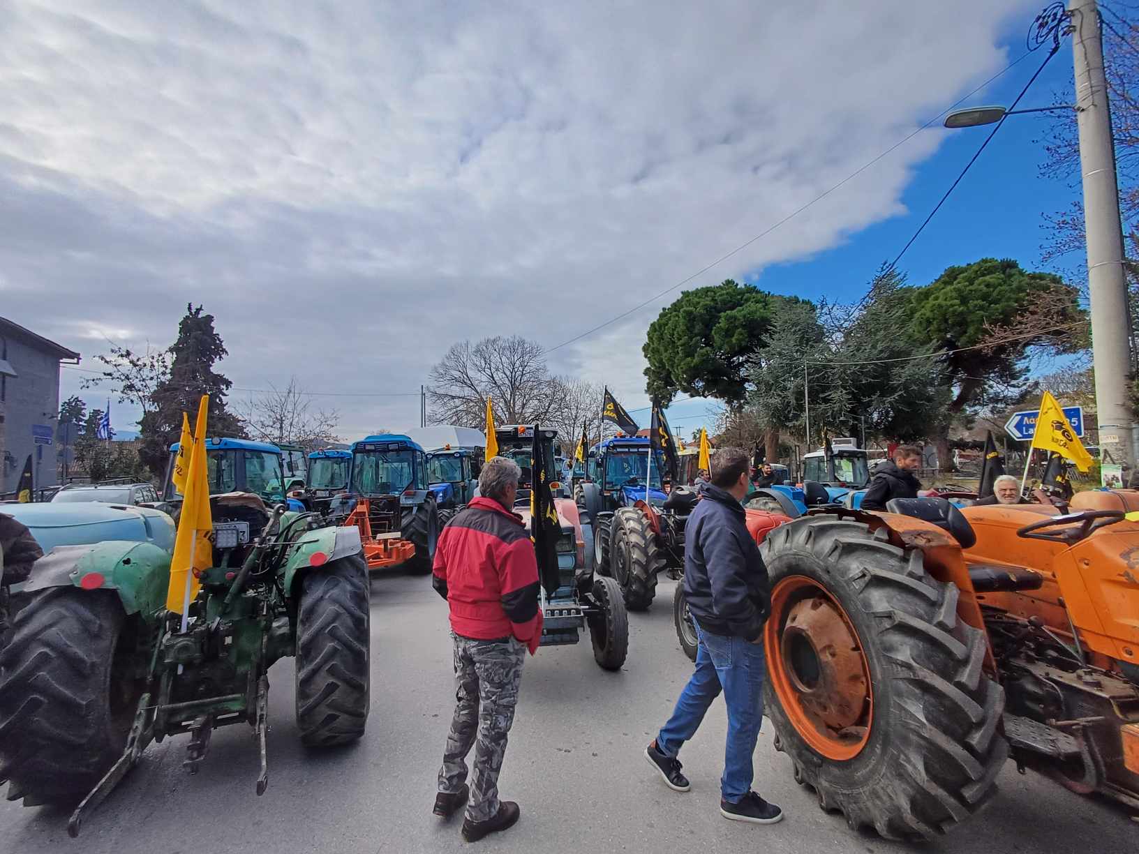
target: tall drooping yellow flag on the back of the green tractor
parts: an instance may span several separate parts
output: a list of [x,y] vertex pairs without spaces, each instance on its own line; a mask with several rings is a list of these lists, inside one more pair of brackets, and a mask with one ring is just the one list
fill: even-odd
[[[190,469],[186,475],[182,512],[178,518],[174,539],[174,558],[170,564],[170,588],[166,590],[166,610],[177,614],[198,594],[202,582],[197,573],[213,563],[213,517],[210,514],[210,469],[206,465],[206,416],[210,395],[202,395],[198,420],[194,426]],[[192,572],[191,572],[192,570]]]

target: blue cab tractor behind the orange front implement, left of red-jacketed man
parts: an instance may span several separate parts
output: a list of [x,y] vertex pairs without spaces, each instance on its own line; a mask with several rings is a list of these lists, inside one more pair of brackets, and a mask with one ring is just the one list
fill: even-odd
[[[416,547],[408,567],[418,573],[431,572],[439,541],[439,502],[427,485],[427,453],[417,442],[401,433],[354,442],[347,503],[354,498],[368,499],[369,515],[377,519],[399,518],[400,539]],[[346,512],[350,508],[343,509]],[[372,527],[390,529],[387,525]]]

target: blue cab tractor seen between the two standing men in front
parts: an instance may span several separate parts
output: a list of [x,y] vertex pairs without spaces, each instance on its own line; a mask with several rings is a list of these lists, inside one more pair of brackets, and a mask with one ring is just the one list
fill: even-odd
[[616,580],[629,610],[645,610],[656,596],[656,576],[685,566],[685,525],[697,495],[663,490],[664,455],[648,465],[649,441],[608,438],[589,452],[585,478],[574,499],[593,531],[593,570]]

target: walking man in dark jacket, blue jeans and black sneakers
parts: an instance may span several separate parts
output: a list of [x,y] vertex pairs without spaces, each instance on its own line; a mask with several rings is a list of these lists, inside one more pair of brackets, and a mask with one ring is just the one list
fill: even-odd
[[696,672],[645,755],[670,789],[688,791],[677,753],[723,691],[728,745],[720,814],[773,824],[782,812],[752,791],[752,754],[763,722],[763,623],[771,599],[768,570],[744,524],[740,501],[748,486],[747,452],[720,449],[712,458],[711,483],[685,526],[685,596],[699,639]]

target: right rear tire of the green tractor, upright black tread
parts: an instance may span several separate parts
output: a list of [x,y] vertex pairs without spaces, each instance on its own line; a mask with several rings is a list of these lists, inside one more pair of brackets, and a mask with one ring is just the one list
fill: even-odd
[[301,741],[354,741],[368,722],[369,583],[362,555],[305,575],[296,618],[296,725]]

